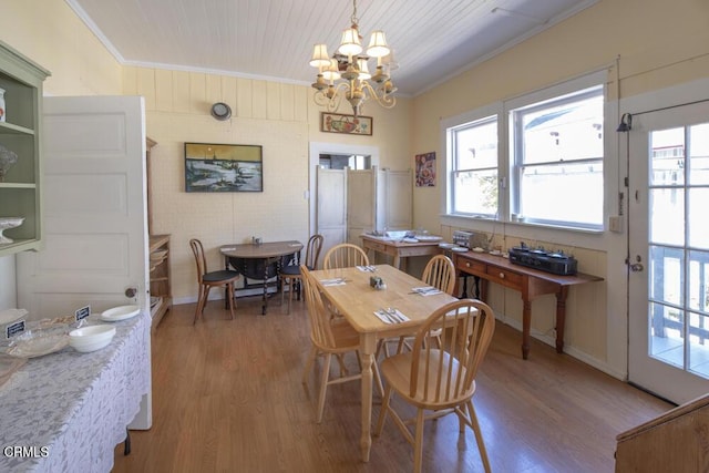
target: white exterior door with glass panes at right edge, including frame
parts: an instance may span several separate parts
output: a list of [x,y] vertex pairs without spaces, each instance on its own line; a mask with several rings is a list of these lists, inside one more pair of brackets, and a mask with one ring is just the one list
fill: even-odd
[[629,381],[709,392],[709,103],[637,114],[629,145]]

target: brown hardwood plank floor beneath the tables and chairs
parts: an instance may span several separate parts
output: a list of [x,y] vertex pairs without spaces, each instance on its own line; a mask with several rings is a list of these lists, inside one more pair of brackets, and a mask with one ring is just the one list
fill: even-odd
[[[153,337],[153,428],[131,432],[129,456],[116,446],[114,472],[411,471],[412,448],[391,420],[360,461],[358,382],[328,388],[315,422],[319,366],[301,383],[305,304],[286,315],[279,299],[265,317],[257,298],[242,299],[235,320],[212,301],[194,327],[195,305],[173,308]],[[612,472],[616,435],[672,408],[536,340],[524,361],[520,333],[500,322],[473,402],[493,471],[515,473]],[[379,407],[376,393],[373,422]],[[454,415],[424,435],[424,471],[482,471]]]

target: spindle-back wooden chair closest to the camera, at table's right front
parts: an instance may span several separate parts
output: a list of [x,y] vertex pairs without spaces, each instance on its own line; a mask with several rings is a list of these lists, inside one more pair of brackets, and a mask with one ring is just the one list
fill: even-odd
[[[428,340],[431,330],[436,328],[446,333],[439,348]],[[422,469],[424,421],[450,413],[458,415],[462,435],[465,425],[472,429],[484,469],[491,471],[473,407],[473,394],[475,376],[494,330],[495,316],[486,304],[473,299],[458,300],[439,308],[427,319],[417,331],[412,351],[381,362],[380,370],[387,390],[374,432],[381,435],[387,415],[391,415],[407,441],[413,444],[415,473]],[[404,420],[397,413],[391,402],[394,393],[417,409],[413,435],[407,424],[414,419]]]

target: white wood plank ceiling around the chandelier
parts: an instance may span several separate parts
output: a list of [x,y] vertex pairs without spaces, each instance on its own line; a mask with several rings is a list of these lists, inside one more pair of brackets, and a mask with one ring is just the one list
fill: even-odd
[[[351,0],[65,0],[126,65],[309,84],[312,45],[332,54]],[[436,83],[598,0],[358,0],[363,42],[383,30],[399,94]],[[366,44],[364,44],[366,45]]]

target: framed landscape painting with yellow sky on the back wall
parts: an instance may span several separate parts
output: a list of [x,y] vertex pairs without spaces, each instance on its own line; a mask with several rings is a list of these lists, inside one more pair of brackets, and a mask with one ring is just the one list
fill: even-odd
[[185,192],[263,192],[260,145],[185,143]]

